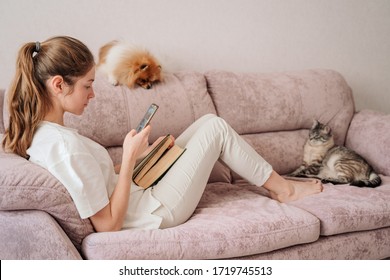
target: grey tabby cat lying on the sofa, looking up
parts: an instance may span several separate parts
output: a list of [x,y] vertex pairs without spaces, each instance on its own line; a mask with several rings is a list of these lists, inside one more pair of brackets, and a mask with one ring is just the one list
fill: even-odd
[[304,146],[303,164],[289,174],[293,177],[314,177],[322,182],[351,184],[375,188],[381,178],[356,152],[334,143],[328,125],[314,121]]

